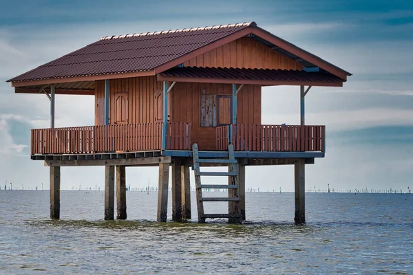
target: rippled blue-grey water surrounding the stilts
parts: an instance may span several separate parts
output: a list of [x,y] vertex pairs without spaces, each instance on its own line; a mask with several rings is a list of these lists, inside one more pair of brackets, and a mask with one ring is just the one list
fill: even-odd
[[[103,220],[103,192],[0,191],[3,274],[413,274],[413,195],[247,192],[244,225],[156,223],[157,193],[127,192],[127,221]],[[169,197],[169,203],[171,202]],[[213,203],[206,212],[225,210]],[[171,208],[169,208],[169,217]]]

